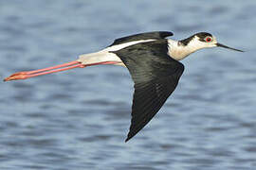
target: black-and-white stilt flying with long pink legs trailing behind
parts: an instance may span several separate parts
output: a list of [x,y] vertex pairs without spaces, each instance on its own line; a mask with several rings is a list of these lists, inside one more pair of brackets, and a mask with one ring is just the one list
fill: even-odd
[[45,69],[18,72],[4,81],[92,65],[124,66],[135,83],[131,126],[125,140],[127,142],[150,122],[174,92],[184,71],[184,65],[179,60],[199,49],[215,46],[243,52],[217,42],[216,38],[207,32],[196,33],[181,41],[166,39],[173,35],[168,31],[155,31],[122,37],[99,52],[83,54],[77,60]]

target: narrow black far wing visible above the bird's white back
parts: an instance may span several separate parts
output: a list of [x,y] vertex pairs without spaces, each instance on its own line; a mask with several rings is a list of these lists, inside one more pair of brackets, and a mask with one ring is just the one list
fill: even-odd
[[140,40],[149,40],[149,39],[160,40],[173,35],[174,35],[173,32],[168,32],[168,31],[145,32],[145,33],[140,33],[140,34],[119,38],[109,46],[113,46],[113,45],[117,45],[125,42],[140,41]]

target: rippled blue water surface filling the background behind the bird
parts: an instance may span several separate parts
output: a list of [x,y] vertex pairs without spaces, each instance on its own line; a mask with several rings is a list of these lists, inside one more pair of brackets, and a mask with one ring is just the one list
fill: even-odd
[[126,144],[133,82],[125,68],[0,82],[0,169],[255,169],[255,8],[254,0],[1,0],[1,79],[155,30],[175,40],[208,31],[247,52],[184,59],[173,95]]

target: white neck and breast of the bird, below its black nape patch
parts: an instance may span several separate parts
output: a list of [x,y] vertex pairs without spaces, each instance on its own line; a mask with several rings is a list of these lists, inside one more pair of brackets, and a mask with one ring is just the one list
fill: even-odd
[[185,59],[187,56],[192,54],[193,52],[204,48],[203,45],[198,44],[198,41],[192,41],[188,45],[184,45],[181,42],[168,40],[169,46],[169,55],[176,60]]

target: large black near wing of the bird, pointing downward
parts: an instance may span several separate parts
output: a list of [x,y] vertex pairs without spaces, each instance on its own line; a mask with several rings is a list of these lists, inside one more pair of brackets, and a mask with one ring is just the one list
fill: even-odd
[[167,55],[166,40],[142,42],[114,52],[128,68],[135,93],[132,121],[125,142],[145,127],[174,92],[184,65]]

